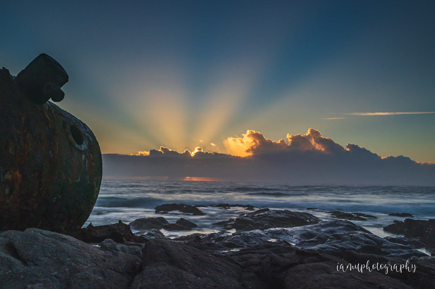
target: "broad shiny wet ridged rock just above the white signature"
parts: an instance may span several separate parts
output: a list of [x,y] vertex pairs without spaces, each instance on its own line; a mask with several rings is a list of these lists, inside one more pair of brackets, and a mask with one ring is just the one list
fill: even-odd
[[294,246],[332,256],[341,257],[346,250],[401,258],[427,256],[411,246],[388,242],[345,220],[324,221],[315,225],[289,229],[273,228],[264,230],[264,233],[271,238],[280,238],[295,243]]

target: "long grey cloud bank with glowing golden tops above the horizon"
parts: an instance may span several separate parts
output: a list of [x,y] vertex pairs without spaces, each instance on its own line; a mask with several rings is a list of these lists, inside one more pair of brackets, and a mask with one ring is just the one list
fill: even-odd
[[231,154],[178,152],[166,147],[149,155],[103,154],[104,177],[171,180],[273,181],[321,184],[435,185],[435,164],[404,156],[381,158],[357,144],[346,148],[310,128],[273,141],[258,131],[224,140]]

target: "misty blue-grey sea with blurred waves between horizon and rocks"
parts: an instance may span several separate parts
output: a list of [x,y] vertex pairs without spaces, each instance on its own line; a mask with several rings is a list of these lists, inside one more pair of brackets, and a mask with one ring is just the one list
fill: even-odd
[[[205,215],[190,216],[178,211],[154,213],[161,204],[205,205]],[[382,228],[404,217],[389,213],[412,213],[415,219],[435,218],[435,187],[381,186],[340,184],[279,184],[226,181],[153,181],[103,179],[94,210],[84,224],[130,223],[137,218],[164,217],[170,223],[181,217],[198,225],[194,231],[161,230],[173,238],[191,233],[222,230],[213,223],[238,217],[247,211],[242,207],[222,209],[213,204],[242,204],[258,208],[308,212],[321,220],[334,220],[333,210],[366,213],[377,217],[352,221],[372,233],[392,235]],[[315,208],[308,210],[307,208]],[[228,233],[232,233],[231,231]]]

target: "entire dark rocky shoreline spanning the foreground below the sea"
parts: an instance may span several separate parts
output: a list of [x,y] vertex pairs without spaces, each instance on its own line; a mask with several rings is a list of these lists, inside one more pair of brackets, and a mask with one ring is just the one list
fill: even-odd
[[[208,234],[189,234],[196,224],[188,216],[205,213],[185,204],[156,207],[156,214],[184,213],[175,223],[151,217],[63,234],[1,232],[0,288],[435,288],[435,257],[416,249],[433,248],[432,219],[395,222],[404,236],[381,238],[345,220],[370,215],[331,212],[336,220],[322,221],[290,210],[215,206],[247,211]],[[186,234],[168,239],[162,228]],[[338,270],[367,262],[408,262],[415,272]]]

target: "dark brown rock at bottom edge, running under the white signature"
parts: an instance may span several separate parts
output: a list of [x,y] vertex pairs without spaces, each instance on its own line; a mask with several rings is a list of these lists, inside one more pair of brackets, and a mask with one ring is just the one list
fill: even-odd
[[291,246],[261,244],[226,255],[241,264],[244,288],[411,288],[377,271],[337,271],[348,262]]

